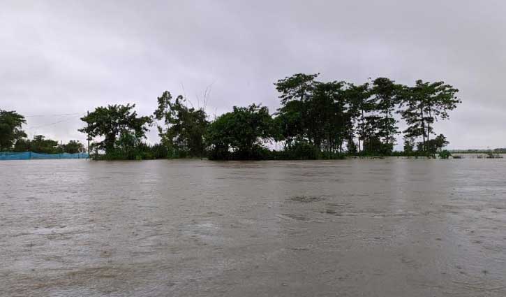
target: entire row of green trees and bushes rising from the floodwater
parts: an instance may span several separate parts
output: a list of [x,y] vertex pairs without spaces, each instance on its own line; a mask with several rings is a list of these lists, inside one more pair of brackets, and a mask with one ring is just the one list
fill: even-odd
[[[234,106],[210,120],[205,107],[190,108],[183,96],[174,99],[165,91],[151,116],[137,115],[135,104],[98,107],[82,117],[86,126],[79,131],[92,141],[90,151],[96,159],[451,156],[442,150],[449,142],[436,134],[435,124],[448,119],[449,111],[461,102],[458,89],[422,80],[407,86],[389,78],[361,85],[317,79],[318,74],[299,73],[274,83],[281,104],[276,113],[252,103]],[[407,126],[404,131],[399,131],[399,119]],[[24,123],[21,115],[0,110],[1,150],[57,147],[43,136],[26,140]],[[156,126],[161,138],[156,145],[145,142],[151,126]],[[394,152],[401,133],[404,150]],[[273,150],[274,144],[282,149]],[[63,149],[81,152],[84,147],[73,142],[60,145]]]

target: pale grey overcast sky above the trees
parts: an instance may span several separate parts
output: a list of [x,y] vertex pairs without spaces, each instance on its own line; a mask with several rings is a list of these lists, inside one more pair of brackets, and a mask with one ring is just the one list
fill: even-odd
[[436,132],[451,148],[506,147],[505,13],[503,0],[0,0],[0,109],[26,115],[29,136],[84,140],[87,110],[150,115],[164,90],[197,107],[209,88],[219,115],[274,112],[273,82],[292,73],[444,80],[463,103]]

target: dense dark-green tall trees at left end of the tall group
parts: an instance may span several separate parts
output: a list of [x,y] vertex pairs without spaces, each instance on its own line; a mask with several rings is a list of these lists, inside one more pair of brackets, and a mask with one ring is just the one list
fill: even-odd
[[350,108],[344,82],[318,82],[317,76],[295,74],[276,82],[281,93],[276,122],[288,143],[307,141],[318,150],[341,151],[356,110]]

